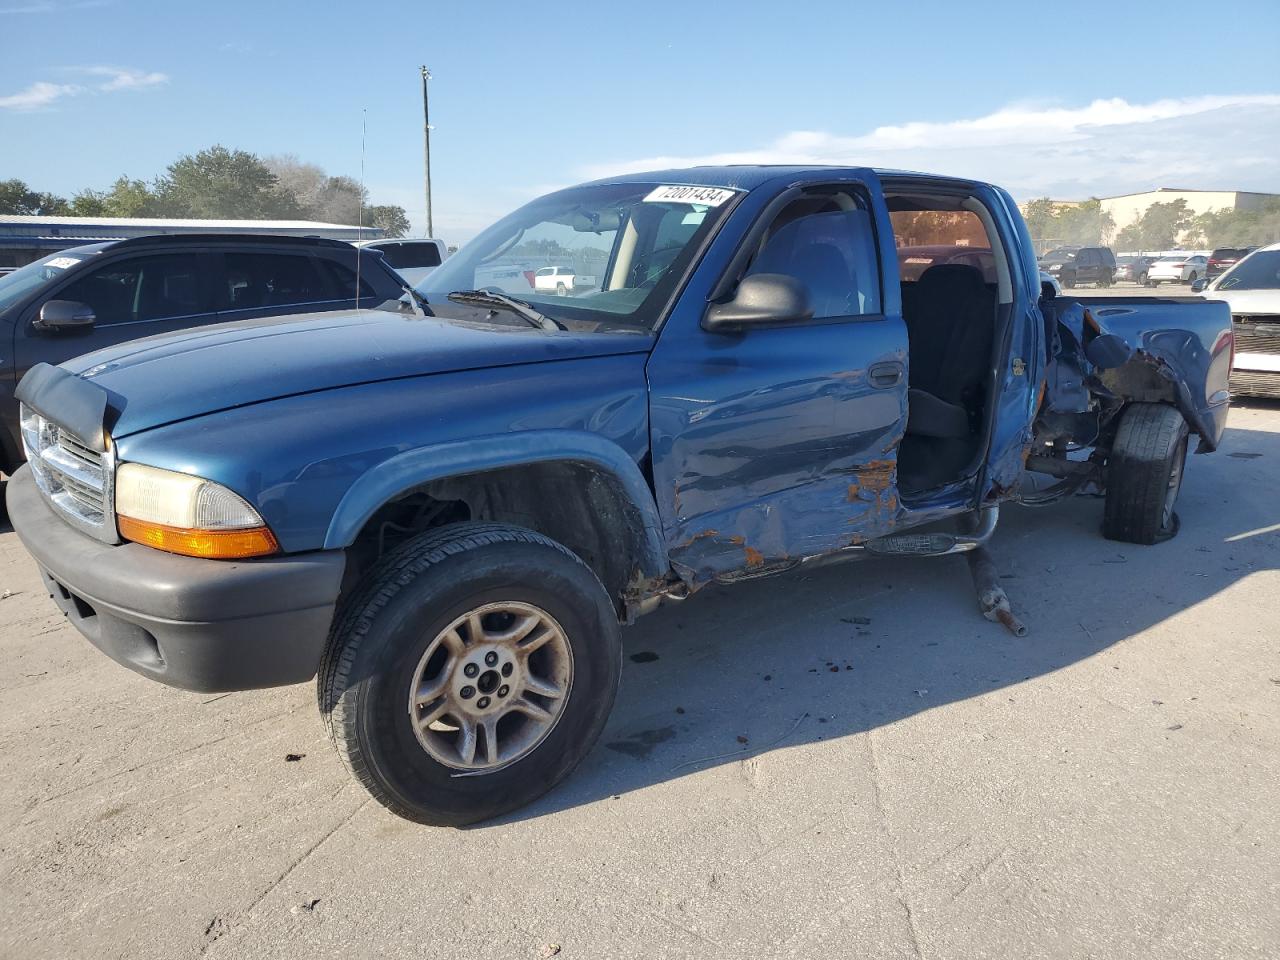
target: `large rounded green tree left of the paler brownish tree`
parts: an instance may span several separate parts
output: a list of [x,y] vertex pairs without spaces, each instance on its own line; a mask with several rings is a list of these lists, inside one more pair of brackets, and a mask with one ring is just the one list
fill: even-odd
[[224,146],[179,157],[156,187],[160,207],[169,216],[264,220],[302,212],[257,156]]

